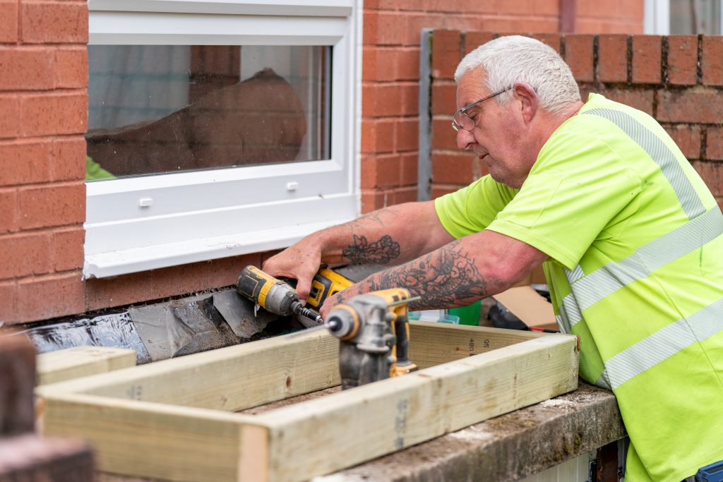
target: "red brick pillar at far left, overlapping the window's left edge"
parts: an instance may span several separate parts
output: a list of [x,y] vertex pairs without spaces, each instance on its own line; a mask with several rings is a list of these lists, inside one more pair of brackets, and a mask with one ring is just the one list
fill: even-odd
[[83,311],[85,1],[0,0],[0,321]]

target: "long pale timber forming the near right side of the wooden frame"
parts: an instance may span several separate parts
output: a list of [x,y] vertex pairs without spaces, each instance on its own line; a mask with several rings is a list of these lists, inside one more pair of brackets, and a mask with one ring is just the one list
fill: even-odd
[[[304,481],[575,390],[576,345],[569,335],[537,337],[262,413],[268,475],[251,480]],[[253,462],[247,453],[242,465]]]

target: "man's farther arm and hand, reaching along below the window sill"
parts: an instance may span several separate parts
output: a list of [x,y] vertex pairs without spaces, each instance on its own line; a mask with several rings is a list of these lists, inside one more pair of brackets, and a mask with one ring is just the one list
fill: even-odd
[[395,265],[452,240],[437,218],[433,201],[408,202],[312,233],[267,259],[262,270],[296,279],[296,291],[304,300],[321,263]]

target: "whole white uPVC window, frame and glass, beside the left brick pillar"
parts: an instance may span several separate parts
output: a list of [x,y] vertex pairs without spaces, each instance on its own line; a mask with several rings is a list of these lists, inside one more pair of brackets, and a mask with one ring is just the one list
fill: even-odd
[[86,277],[359,215],[356,0],[90,0]]

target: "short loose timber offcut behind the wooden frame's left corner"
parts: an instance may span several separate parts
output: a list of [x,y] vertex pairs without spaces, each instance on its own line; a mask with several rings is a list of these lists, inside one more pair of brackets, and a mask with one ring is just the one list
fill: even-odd
[[37,357],[38,385],[107,373],[135,366],[135,363],[135,350],[128,348],[77,346],[40,353]]

